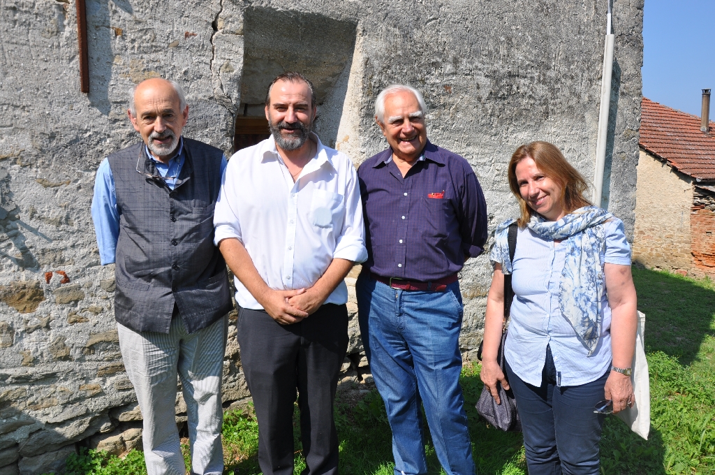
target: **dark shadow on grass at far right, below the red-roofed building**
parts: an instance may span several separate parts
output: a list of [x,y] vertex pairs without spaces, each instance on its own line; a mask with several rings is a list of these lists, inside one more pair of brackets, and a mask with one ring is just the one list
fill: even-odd
[[638,310],[646,314],[646,353],[662,351],[687,366],[706,335],[715,336],[715,292],[680,275],[633,268]]

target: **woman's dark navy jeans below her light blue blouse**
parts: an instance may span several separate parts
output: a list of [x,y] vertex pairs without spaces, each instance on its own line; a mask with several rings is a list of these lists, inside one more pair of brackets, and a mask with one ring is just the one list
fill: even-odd
[[521,418],[529,475],[598,475],[602,414],[593,413],[603,401],[609,371],[581,386],[556,386],[551,347],[546,347],[541,386],[521,381],[507,361],[509,386]]

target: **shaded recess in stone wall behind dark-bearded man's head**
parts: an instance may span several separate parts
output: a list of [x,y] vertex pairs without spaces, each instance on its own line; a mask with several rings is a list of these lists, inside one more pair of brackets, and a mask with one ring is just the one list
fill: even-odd
[[297,71],[315,85],[315,132],[335,147],[355,49],[355,24],[319,14],[250,8],[244,14],[244,63],[239,114],[264,115],[268,84]]

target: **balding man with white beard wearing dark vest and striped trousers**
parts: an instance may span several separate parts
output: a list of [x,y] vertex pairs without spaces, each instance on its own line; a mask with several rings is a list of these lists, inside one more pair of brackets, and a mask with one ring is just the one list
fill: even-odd
[[97,170],[92,219],[102,265],[114,263],[114,317],[127,376],[144,417],[149,475],[183,475],[174,421],[177,374],[189,418],[191,473],[223,472],[221,376],[232,308],[225,261],[213,243],[226,157],[182,137],[182,88],[147,79],[127,111],[143,142]]

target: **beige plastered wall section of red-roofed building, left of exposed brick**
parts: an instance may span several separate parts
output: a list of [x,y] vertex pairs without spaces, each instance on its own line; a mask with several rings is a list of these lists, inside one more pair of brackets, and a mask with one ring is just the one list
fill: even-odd
[[634,262],[646,268],[691,270],[692,182],[688,175],[641,150]]

